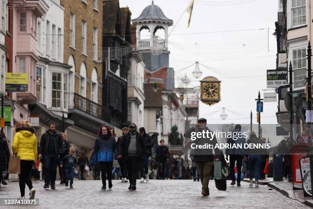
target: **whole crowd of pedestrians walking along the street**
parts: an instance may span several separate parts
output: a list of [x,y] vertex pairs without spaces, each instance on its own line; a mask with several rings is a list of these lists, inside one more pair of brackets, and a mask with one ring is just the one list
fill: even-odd
[[[189,137],[191,132],[207,130],[210,131],[206,119],[200,118],[196,126],[185,133],[185,137]],[[265,166],[273,168],[273,164],[269,165],[269,156],[264,152],[260,154],[251,150],[247,154],[241,149],[226,149],[226,158],[219,149],[208,149],[206,153],[203,153],[203,150],[192,150],[190,153],[192,162],[189,165],[182,155],[171,154],[164,140],[160,140],[160,145],[155,145],[145,128],[138,129],[135,123],[124,127],[123,135],[117,137],[117,140],[114,129],[101,126],[89,159],[84,151],[79,152],[77,158],[74,156],[76,149],[66,140],[65,133],[56,132],[53,122],[49,124],[49,130],[41,135],[40,143],[37,142],[35,129],[30,127],[27,120],[23,121],[21,127],[16,128],[15,132],[12,145],[4,132],[0,132],[0,171],[2,184],[7,185],[5,180],[8,176],[9,159],[19,157],[18,177],[21,199],[25,198],[26,185],[29,188],[29,197],[35,197],[31,177],[40,180],[40,172],[41,179],[44,181],[43,188],[54,190],[57,168],[60,184],[65,186],[70,184],[71,189],[73,189],[74,177],[86,180],[92,172],[94,180],[100,180],[101,177],[101,190],[106,190],[107,186],[111,189],[113,179],[120,179],[121,182],[129,181],[129,190],[137,189],[137,179],[140,179],[140,182],[149,179],[192,179],[201,181],[204,196],[209,195],[209,180],[214,177],[215,161],[223,162],[225,159],[228,160],[229,156],[228,179],[232,180],[231,185],[237,181],[237,186],[240,186],[243,178],[250,178],[250,185],[253,185],[253,178],[255,178],[255,186],[258,186],[258,180],[265,178],[263,172]],[[236,125],[234,132],[241,132],[239,124]],[[204,144],[208,141],[215,148],[217,143],[215,137],[213,140],[203,137],[195,142]],[[265,143],[265,141],[251,132],[247,141],[244,137],[236,140],[228,138],[227,143]],[[152,158],[152,149],[155,150],[154,158]]]

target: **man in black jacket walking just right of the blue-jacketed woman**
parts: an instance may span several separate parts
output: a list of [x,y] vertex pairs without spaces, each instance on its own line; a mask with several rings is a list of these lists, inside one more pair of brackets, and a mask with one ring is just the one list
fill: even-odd
[[118,159],[123,159],[127,165],[129,187],[128,190],[136,190],[136,178],[138,175],[138,164],[145,152],[143,137],[137,132],[135,123],[130,123],[129,133],[123,135],[119,143]]

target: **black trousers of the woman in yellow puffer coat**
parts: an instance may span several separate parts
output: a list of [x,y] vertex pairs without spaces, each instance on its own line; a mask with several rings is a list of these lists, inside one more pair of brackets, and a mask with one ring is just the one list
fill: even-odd
[[32,160],[20,160],[20,174],[18,174],[18,178],[21,197],[25,196],[25,184],[27,184],[29,190],[31,190],[33,187],[32,181],[30,180],[33,163],[34,161]]

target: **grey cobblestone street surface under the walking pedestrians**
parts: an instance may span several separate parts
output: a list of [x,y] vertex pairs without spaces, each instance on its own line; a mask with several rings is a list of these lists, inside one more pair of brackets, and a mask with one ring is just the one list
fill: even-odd
[[[265,185],[255,188],[247,182],[242,182],[241,187],[229,184],[230,181],[226,192],[219,192],[214,181],[210,181],[210,196],[202,197],[200,183],[191,180],[150,180],[137,183],[137,191],[128,191],[128,183],[117,180],[113,181],[113,188],[106,191],[100,190],[99,180],[74,181],[73,190],[64,184],[57,184],[56,190],[44,190],[43,182],[38,182],[33,186],[39,206],[28,208],[310,208]],[[10,182],[0,191],[0,198],[19,195],[18,182]]]

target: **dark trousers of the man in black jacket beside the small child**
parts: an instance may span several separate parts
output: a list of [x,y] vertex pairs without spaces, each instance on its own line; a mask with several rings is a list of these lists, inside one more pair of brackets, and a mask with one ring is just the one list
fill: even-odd
[[44,183],[55,184],[56,169],[58,166],[58,156],[56,155],[44,155]]

